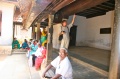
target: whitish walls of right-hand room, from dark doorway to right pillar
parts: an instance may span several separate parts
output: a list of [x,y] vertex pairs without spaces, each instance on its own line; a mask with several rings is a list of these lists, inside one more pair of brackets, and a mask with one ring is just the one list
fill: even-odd
[[[69,18],[68,22],[72,19]],[[77,25],[76,46],[90,46],[100,49],[111,49],[112,34],[100,34],[100,28],[113,27],[114,11],[106,15],[86,19],[77,16],[74,25]]]

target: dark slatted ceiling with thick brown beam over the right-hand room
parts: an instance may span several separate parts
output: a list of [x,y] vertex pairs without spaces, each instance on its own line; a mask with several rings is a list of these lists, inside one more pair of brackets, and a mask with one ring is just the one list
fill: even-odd
[[75,2],[63,7],[58,13],[62,13],[63,17],[73,14],[92,18],[105,15],[106,12],[114,10],[115,0],[76,0]]

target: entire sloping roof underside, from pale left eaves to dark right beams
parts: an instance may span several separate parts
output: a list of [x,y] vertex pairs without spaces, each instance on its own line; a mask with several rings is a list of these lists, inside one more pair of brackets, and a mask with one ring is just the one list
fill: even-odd
[[[0,0],[16,5],[15,17],[23,18],[23,24],[29,28],[36,22],[47,18],[48,14],[62,12],[63,16],[73,14],[92,18],[114,10],[115,0]],[[16,19],[15,18],[15,19]]]

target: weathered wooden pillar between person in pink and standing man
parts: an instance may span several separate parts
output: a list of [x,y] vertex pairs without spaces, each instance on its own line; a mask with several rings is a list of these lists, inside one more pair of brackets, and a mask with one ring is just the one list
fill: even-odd
[[52,60],[52,42],[51,42],[51,36],[52,36],[52,26],[53,26],[53,18],[54,18],[54,15],[51,15],[49,14],[48,15],[48,18],[49,18],[49,23],[48,23],[48,44],[47,44],[47,64],[49,64]]

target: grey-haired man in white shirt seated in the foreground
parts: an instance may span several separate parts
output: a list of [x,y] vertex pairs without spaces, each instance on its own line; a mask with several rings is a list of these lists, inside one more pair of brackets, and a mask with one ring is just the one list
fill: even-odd
[[46,72],[54,67],[56,69],[55,75],[51,79],[73,79],[72,78],[72,66],[67,57],[68,52],[65,48],[60,48],[59,56],[55,58],[51,64],[49,64],[46,70],[43,73],[43,78],[45,77]]

